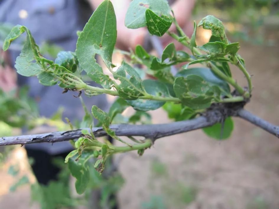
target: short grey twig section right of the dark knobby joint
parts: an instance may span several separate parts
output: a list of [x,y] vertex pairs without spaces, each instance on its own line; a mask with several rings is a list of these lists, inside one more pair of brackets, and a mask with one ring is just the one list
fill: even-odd
[[275,126],[244,109],[240,109],[237,115],[279,138],[279,126]]

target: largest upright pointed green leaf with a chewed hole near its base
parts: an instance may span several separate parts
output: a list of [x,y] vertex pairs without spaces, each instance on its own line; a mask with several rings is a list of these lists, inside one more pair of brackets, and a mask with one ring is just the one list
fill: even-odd
[[92,80],[107,89],[110,89],[114,82],[103,73],[94,57],[96,54],[100,55],[109,69],[114,66],[112,53],[116,34],[115,12],[112,3],[105,0],[90,17],[76,44],[76,56],[81,68]]

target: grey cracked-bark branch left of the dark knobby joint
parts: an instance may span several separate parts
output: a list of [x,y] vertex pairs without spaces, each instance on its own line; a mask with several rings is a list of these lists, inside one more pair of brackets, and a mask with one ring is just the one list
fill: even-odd
[[[200,116],[198,118],[173,122],[169,124],[150,124],[150,125],[131,125],[131,124],[116,124],[111,125],[110,128],[115,131],[117,136],[143,136],[147,139],[155,141],[164,136],[180,134],[195,129],[212,126],[220,120],[220,117],[208,119],[207,116]],[[87,128],[90,131],[89,128]],[[96,137],[106,136],[107,133],[100,127],[92,129]],[[41,142],[58,142],[68,141],[71,139],[78,139],[82,136],[81,129],[73,131],[57,131],[46,134],[23,135],[23,136],[9,136],[0,137],[0,146],[14,145],[14,144],[31,144]]]

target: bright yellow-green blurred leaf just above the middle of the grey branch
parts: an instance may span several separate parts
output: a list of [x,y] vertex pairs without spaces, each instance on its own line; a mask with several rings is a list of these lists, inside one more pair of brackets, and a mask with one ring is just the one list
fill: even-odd
[[163,109],[168,113],[168,117],[175,121],[192,119],[197,114],[192,108],[186,106],[183,107],[182,104],[174,102],[166,102]]

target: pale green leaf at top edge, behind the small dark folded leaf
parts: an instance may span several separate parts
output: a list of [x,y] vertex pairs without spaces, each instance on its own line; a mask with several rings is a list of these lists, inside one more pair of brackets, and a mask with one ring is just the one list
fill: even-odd
[[169,16],[171,11],[167,0],[133,0],[126,13],[125,26],[132,29],[145,27],[147,9],[159,16]]

